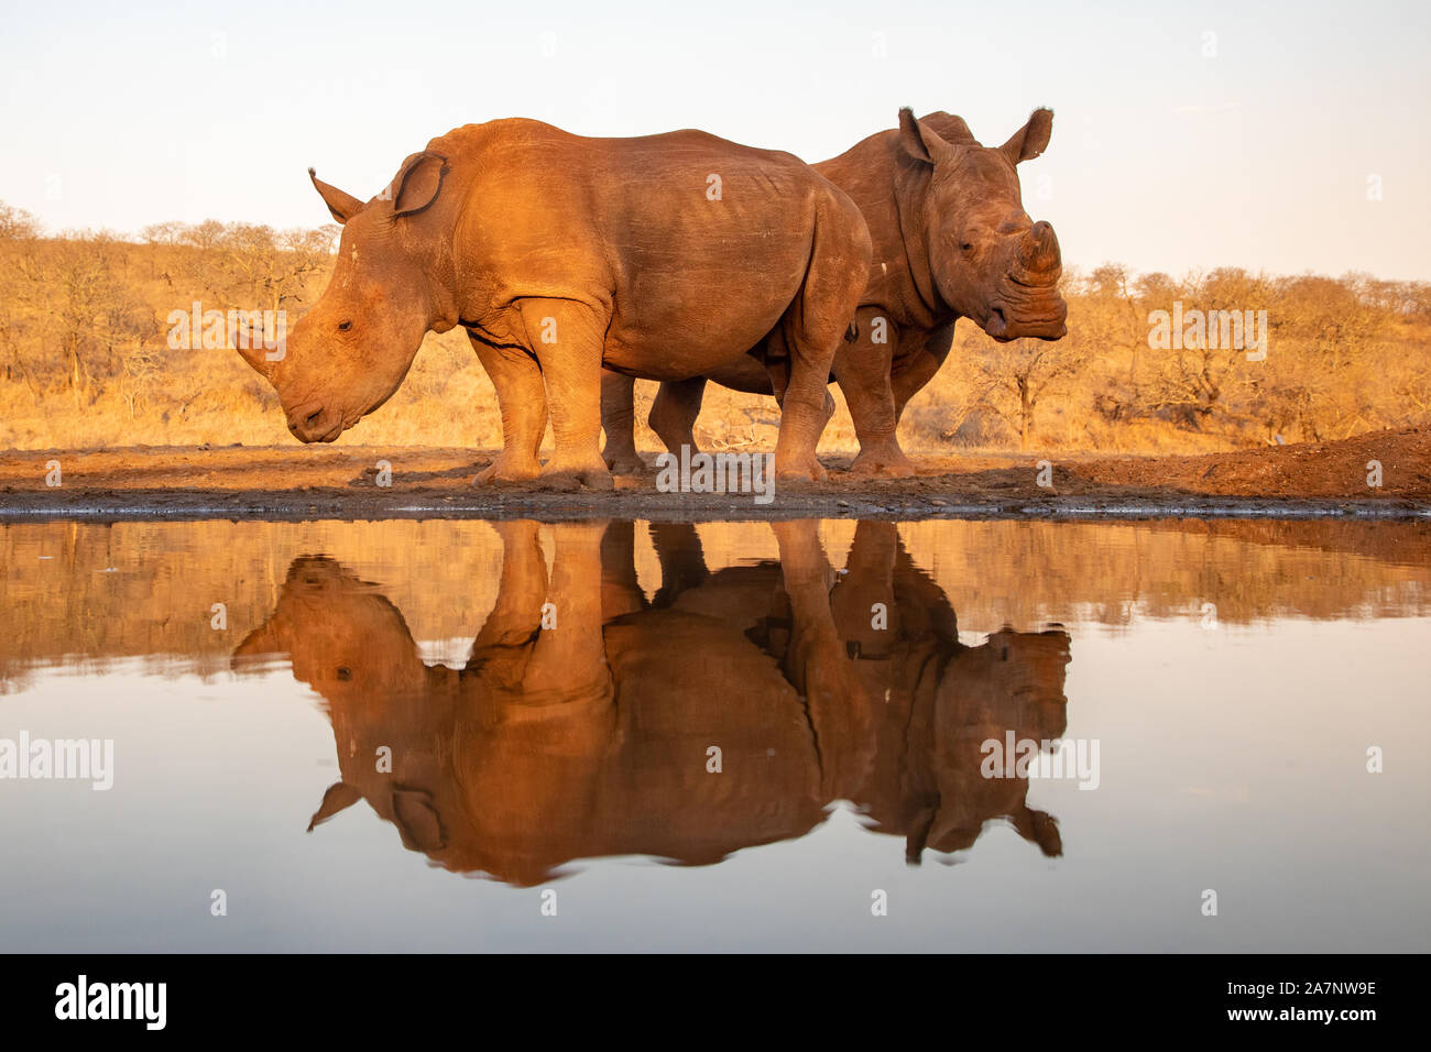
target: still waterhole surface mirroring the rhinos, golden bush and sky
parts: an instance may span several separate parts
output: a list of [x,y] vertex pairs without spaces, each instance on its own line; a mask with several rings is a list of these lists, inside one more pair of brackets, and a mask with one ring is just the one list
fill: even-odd
[[[0,558],[0,950],[1431,949],[1424,525],[64,522]],[[110,787],[54,777],[82,739]]]

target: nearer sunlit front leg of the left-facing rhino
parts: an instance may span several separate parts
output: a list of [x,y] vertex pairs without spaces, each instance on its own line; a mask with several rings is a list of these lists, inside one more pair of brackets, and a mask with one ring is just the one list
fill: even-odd
[[611,490],[601,459],[601,355],[610,312],[572,299],[524,299],[527,348],[541,364],[557,449],[542,481],[558,490]]

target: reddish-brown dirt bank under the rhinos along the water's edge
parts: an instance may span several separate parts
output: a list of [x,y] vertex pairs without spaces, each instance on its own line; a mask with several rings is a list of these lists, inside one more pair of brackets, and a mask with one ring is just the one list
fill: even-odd
[[[926,455],[903,479],[851,475],[850,457],[834,454],[821,458],[829,481],[778,484],[768,504],[750,494],[658,492],[654,468],[618,477],[604,492],[474,487],[491,455],[359,445],[7,451],[0,521],[1431,517],[1431,428],[1198,457]],[[56,461],[60,484],[49,485]],[[1379,465],[1379,487],[1369,485],[1368,465]],[[1039,485],[1040,474],[1052,487]],[[379,485],[388,475],[391,484]]]

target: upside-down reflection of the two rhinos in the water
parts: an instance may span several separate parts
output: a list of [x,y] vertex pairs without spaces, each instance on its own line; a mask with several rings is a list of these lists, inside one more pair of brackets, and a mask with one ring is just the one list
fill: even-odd
[[518,885],[595,856],[714,863],[804,834],[840,799],[912,862],[993,819],[1060,853],[1027,781],[979,766],[1006,730],[1063,733],[1068,635],[962,646],[893,524],[859,525],[843,575],[814,522],[773,524],[778,562],[716,574],[694,528],[654,525],[651,601],[631,524],[547,527],[550,575],[535,522],[495,528],[498,598],[462,670],[424,664],[396,607],[325,557],[295,560],[235,653],[236,668],[288,654],[326,701],[342,780],[311,829],[366,800],[408,849]]

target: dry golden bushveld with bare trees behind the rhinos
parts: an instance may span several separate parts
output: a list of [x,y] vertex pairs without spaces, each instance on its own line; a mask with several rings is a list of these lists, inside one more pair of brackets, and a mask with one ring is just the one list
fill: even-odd
[[[0,447],[289,444],[276,396],[230,349],[175,349],[167,318],[282,311],[328,282],[338,228],[157,223],[139,238],[47,236],[0,203]],[[1202,452],[1345,438],[1431,421],[1431,283],[1236,268],[1136,275],[1068,268],[1069,335],[1000,345],[960,322],[939,375],[906,409],[912,451]],[[1266,311],[1268,354],[1153,349],[1149,313]],[[637,385],[638,419],[654,385]],[[768,398],[711,386],[708,448],[774,448]],[[495,448],[495,394],[461,331],[429,335],[404,388],[339,439]],[[660,448],[645,428],[638,445]],[[843,404],[823,449],[853,449]]]

